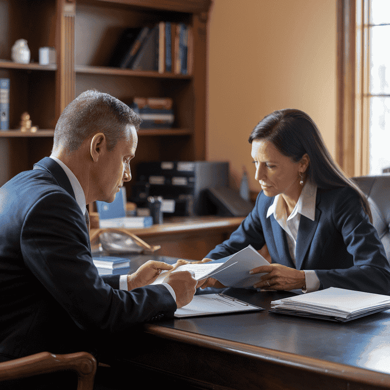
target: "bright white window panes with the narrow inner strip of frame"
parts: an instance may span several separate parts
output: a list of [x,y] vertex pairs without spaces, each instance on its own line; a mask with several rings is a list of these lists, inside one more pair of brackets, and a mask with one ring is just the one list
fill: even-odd
[[[356,78],[361,112],[362,173],[380,175],[390,167],[390,1],[356,1]],[[367,116],[367,117],[366,117]],[[364,149],[363,149],[364,150]]]

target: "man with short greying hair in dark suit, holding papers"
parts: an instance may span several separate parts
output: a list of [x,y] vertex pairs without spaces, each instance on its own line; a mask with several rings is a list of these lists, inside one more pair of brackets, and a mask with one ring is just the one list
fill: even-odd
[[112,202],[131,180],[139,123],[119,100],[86,91],[62,112],[51,156],[0,188],[0,361],[95,353],[191,301],[189,272],[148,285],[172,266],[100,277],[92,263],[85,207]]

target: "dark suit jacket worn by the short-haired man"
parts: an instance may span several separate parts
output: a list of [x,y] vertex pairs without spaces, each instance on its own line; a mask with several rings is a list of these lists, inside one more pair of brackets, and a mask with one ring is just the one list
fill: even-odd
[[176,310],[165,286],[123,291],[119,275],[98,275],[84,215],[51,158],[0,188],[0,229],[0,360],[93,352]]

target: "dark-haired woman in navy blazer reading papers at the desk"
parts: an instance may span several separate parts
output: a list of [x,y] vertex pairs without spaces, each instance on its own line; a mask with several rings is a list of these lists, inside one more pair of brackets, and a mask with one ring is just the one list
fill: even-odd
[[272,263],[251,271],[263,274],[256,288],[390,294],[389,264],[368,201],[334,163],[314,121],[299,110],[275,111],[249,143],[262,191],[239,228],[204,261],[249,244],[266,246]]

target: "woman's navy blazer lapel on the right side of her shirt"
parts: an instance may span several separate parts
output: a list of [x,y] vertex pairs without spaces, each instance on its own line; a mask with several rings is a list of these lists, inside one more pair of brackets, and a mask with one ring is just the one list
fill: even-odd
[[297,247],[295,251],[297,270],[300,270],[303,266],[304,258],[313,240],[314,233],[317,229],[319,217],[321,215],[321,210],[318,208],[320,198],[321,198],[320,190],[318,188],[314,221],[305,217],[304,215],[301,215],[301,220],[299,222],[298,236],[297,236]]

